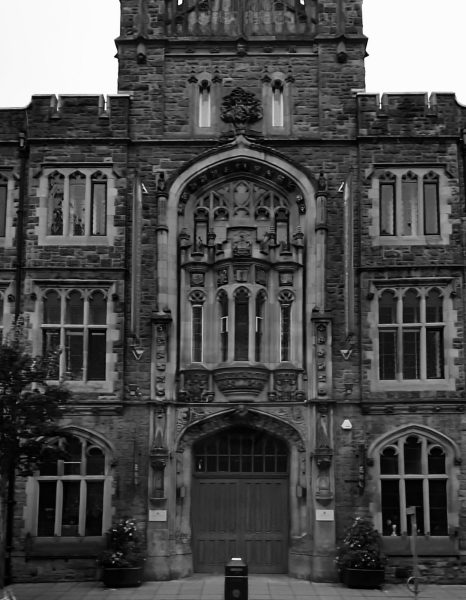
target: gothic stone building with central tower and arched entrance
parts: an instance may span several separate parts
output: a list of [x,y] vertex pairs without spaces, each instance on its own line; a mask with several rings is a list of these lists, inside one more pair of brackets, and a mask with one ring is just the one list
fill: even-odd
[[0,298],[60,349],[68,459],[18,480],[17,580],[335,579],[356,515],[465,581],[466,108],[364,93],[362,0],[121,0],[119,92],[0,112]]

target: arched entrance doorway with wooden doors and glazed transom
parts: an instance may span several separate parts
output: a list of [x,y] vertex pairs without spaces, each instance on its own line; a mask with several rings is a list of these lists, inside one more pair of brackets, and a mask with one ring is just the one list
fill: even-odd
[[233,556],[252,573],[286,573],[288,447],[267,432],[232,427],[193,446],[194,570],[220,572]]

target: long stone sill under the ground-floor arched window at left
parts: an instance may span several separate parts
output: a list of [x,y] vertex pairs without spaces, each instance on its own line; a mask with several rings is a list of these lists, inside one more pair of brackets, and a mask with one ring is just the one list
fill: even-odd
[[105,547],[105,536],[28,537],[24,543],[28,558],[95,558]]

